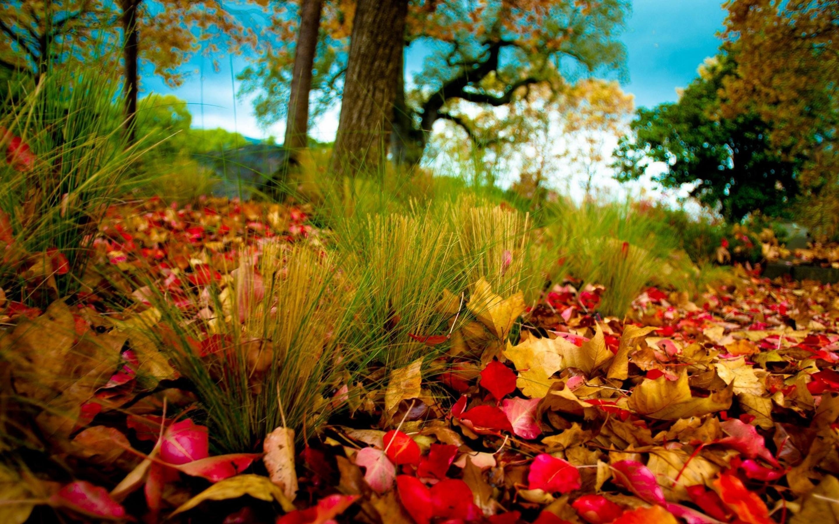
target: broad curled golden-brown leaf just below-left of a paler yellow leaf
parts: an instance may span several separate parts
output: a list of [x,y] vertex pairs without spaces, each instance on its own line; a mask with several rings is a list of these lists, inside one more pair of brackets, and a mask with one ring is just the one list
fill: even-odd
[[682,372],[676,381],[669,381],[665,376],[659,376],[655,380],[645,378],[635,387],[628,402],[629,408],[634,412],[649,418],[665,420],[701,417],[728,409],[731,405],[730,386],[722,392],[711,393],[709,397],[693,397],[685,372]]

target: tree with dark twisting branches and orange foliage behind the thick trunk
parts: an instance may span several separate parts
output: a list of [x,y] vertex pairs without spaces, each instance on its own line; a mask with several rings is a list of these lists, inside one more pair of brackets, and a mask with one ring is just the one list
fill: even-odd
[[[341,96],[354,0],[325,0],[312,89],[315,116]],[[404,45],[421,42],[432,53],[406,87],[399,54],[394,76],[393,141],[398,162],[420,161],[435,122],[466,122],[477,108],[505,107],[528,86],[561,86],[565,75],[622,70],[619,29],[628,0],[415,0],[409,3]],[[242,74],[244,90],[260,93],[258,118],[284,117],[296,18],[274,17],[271,52]],[[406,89],[408,91],[406,91]]]

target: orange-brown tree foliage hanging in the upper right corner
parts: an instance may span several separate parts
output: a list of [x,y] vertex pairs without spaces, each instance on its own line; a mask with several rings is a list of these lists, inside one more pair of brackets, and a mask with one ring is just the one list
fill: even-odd
[[722,115],[755,113],[769,141],[801,158],[798,219],[839,237],[839,0],[732,0],[726,37],[737,67]]

